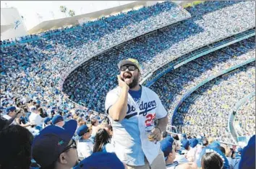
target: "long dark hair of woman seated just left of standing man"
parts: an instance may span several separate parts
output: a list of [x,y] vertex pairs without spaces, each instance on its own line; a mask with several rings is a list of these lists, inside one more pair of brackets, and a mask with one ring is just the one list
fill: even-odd
[[93,152],[101,152],[104,145],[111,140],[106,129],[99,129],[95,134]]

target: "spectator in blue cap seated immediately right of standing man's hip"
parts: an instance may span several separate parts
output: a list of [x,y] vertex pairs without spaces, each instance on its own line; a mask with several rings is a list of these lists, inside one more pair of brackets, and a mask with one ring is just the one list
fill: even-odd
[[167,136],[164,140],[161,141],[161,150],[163,151],[163,155],[166,159],[166,169],[197,169],[197,165],[195,163],[179,164],[179,162],[174,161],[176,158],[176,146],[173,143],[174,139],[171,136]]

